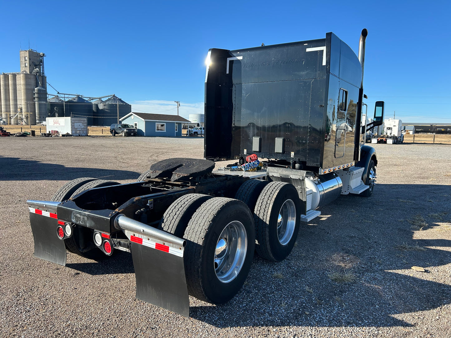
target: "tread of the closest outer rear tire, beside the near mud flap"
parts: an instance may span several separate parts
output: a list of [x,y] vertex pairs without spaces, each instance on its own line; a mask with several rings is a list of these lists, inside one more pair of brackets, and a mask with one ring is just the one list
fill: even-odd
[[[202,301],[211,302],[202,290],[202,270],[199,269],[204,249],[204,239],[217,213],[226,204],[236,201],[233,198],[215,197],[202,204],[194,213],[185,230],[184,238],[187,240],[184,255],[186,285],[188,293]],[[195,245],[194,243],[198,244]]]

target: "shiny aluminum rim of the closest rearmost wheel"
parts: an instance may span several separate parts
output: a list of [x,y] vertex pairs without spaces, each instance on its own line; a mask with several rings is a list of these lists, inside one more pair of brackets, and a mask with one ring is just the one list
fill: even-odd
[[243,267],[248,248],[248,236],[244,225],[233,221],[226,225],[216,242],[214,268],[222,283],[229,283]]

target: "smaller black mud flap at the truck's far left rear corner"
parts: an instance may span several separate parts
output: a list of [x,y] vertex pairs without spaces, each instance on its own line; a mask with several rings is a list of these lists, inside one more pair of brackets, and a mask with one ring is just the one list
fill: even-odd
[[60,265],[66,265],[66,246],[57,236],[58,220],[30,212],[34,240],[34,256]]

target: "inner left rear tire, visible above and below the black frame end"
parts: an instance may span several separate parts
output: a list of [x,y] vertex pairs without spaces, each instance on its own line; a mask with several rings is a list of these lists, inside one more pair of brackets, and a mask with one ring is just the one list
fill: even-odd
[[[113,181],[107,181],[103,179],[96,179],[94,181],[83,184],[79,187],[72,196],[78,195],[80,192],[83,192],[87,189],[98,188],[98,187],[106,187],[110,185],[120,184]],[[64,239],[64,244],[66,245],[66,249],[78,256],[82,256],[84,258],[92,259],[92,260],[100,260],[105,259],[107,256],[95,245],[92,245],[92,249],[88,251],[83,251],[80,245],[80,239],[82,242],[92,243],[92,231],[88,228],[77,226],[74,228],[74,234]]]

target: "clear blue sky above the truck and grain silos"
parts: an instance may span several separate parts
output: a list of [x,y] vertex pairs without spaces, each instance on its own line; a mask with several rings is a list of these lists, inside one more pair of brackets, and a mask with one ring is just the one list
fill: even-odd
[[[133,110],[203,112],[209,48],[324,38],[355,52],[368,29],[368,106],[405,122],[451,123],[450,1],[2,1],[0,72],[20,48],[46,53],[60,92],[116,94]],[[52,93],[53,91],[50,90]],[[172,110],[171,110],[172,109]]]

